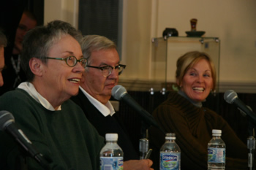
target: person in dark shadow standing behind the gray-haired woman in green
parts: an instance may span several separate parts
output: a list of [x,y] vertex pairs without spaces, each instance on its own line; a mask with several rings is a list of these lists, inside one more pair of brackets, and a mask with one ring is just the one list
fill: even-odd
[[6,54],[4,56],[7,67],[3,72],[5,84],[0,90],[0,96],[9,90],[17,88],[20,82],[26,81],[26,74],[20,66],[20,53],[22,52],[24,36],[35,26],[37,26],[35,15],[29,10],[24,10],[16,30],[12,54]]

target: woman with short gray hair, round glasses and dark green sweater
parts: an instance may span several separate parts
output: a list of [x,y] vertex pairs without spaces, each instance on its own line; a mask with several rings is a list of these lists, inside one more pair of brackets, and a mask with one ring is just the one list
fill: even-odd
[[[78,94],[86,67],[81,38],[60,20],[29,31],[21,54],[28,82],[0,96],[1,110],[12,113],[50,169],[99,169],[104,138],[69,100]],[[0,169],[43,169],[4,131],[0,139]]]

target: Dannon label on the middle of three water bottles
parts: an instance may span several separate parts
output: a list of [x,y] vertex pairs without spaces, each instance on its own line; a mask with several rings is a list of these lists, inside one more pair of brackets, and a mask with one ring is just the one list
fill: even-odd
[[180,169],[181,153],[161,152],[160,169],[161,170],[178,170]]

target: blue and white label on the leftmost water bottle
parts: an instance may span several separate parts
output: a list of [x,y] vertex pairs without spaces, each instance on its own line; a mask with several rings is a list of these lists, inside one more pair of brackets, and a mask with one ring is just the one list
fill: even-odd
[[100,170],[123,170],[123,157],[100,157]]

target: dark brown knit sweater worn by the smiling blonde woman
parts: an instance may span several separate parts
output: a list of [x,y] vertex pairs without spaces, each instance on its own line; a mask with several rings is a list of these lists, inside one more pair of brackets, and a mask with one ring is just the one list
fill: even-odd
[[[181,169],[207,169],[207,144],[212,129],[222,130],[226,144],[226,169],[247,169],[246,145],[238,139],[230,125],[216,112],[205,107],[195,107],[176,92],[170,92],[166,101],[154,110],[153,116],[165,132],[176,133],[176,143],[181,148]],[[155,170],[159,169],[159,149],[165,134],[156,128],[149,131],[149,143]]]

